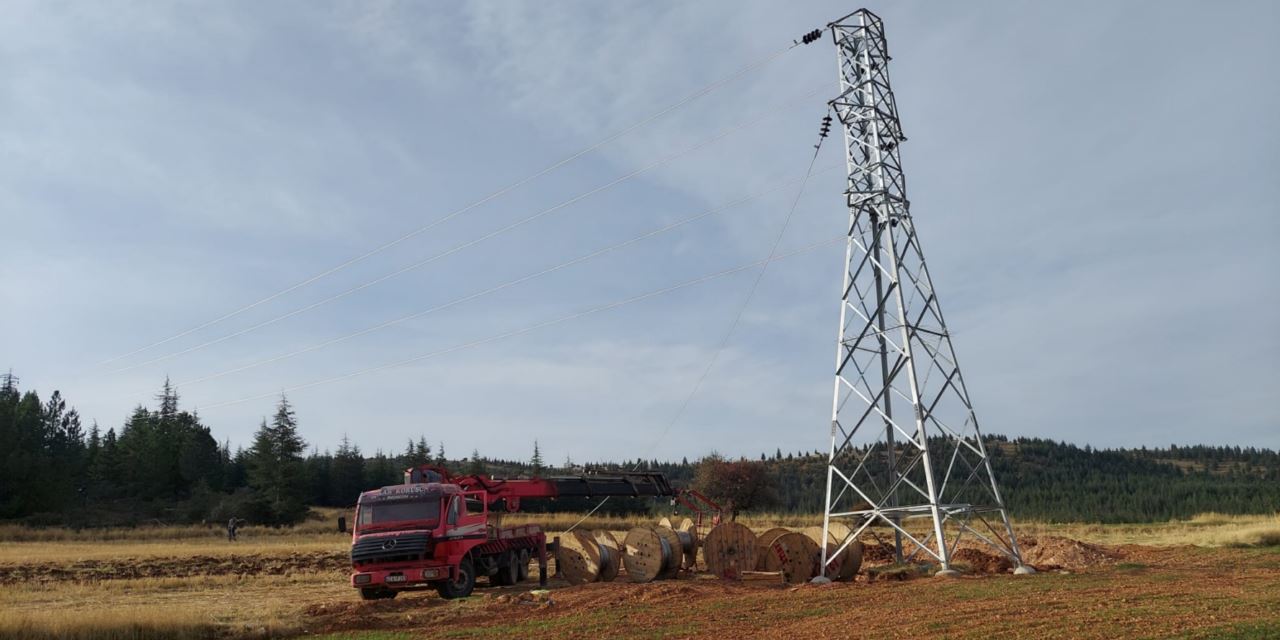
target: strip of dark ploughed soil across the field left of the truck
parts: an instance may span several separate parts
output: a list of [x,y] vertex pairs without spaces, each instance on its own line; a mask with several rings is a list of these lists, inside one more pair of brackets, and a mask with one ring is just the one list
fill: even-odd
[[296,571],[346,572],[346,553],[294,552],[289,554],[191,556],[174,558],[111,558],[67,563],[0,564],[0,584],[95,582],[140,577],[285,575]]

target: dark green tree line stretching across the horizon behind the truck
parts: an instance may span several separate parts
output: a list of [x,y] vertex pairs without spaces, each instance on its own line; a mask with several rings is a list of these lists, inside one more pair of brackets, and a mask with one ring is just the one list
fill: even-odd
[[[1176,447],[1094,449],[1044,439],[987,436],[992,467],[1019,518],[1148,522],[1216,511],[1280,508],[1280,453],[1263,448]],[[223,522],[230,517],[288,525],[308,506],[349,507],[360,492],[398,484],[403,470],[435,463],[461,474],[538,476],[643,468],[676,486],[699,486],[732,511],[822,511],[826,454],[788,452],[759,460],[575,465],[548,463],[538,443],[526,461],[479,451],[445,457],[426,436],[401,453],[367,453],[343,438],[321,452],[303,439],[288,398],[280,398],[247,448],[219,443],[193,411],[179,407],[165,381],[154,407],[136,407],[120,428],[87,428],[59,392],[41,399],[0,376],[0,518],[32,525]],[[529,500],[526,511],[584,511],[586,500]],[[604,512],[660,509],[645,500],[611,500]]]

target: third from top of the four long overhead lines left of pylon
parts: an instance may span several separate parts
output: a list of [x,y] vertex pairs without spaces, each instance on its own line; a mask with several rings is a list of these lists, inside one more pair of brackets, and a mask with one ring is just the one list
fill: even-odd
[[[827,172],[831,172],[833,169],[842,168],[842,166],[844,165],[831,166],[828,169],[823,169],[820,172],[815,172],[814,175],[818,175],[818,174],[822,174],[822,173],[827,173]],[[192,385],[196,385],[196,384],[200,384],[200,383],[205,383],[205,381],[209,381],[209,380],[214,380],[214,379],[218,379],[218,378],[223,378],[223,376],[227,376],[227,375],[238,374],[238,372],[242,372],[242,371],[247,371],[250,369],[256,369],[259,366],[270,365],[270,364],[274,364],[274,362],[280,362],[280,361],[296,357],[296,356],[301,356],[303,353],[311,353],[314,351],[320,351],[320,349],[330,347],[333,344],[338,344],[340,342],[346,342],[346,340],[349,340],[349,339],[353,339],[353,338],[360,338],[362,335],[369,335],[371,333],[379,332],[381,329],[387,329],[389,326],[398,325],[401,323],[407,323],[410,320],[417,320],[417,319],[428,316],[430,314],[435,314],[436,311],[444,311],[447,308],[451,308],[451,307],[454,307],[454,306],[458,306],[458,305],[462,305],[462,303],[466,303],[466,302],[471,302],[471,301],[481,298],[484,296],[498,293],[498,292],[500,292],[503,289],[508,289],[511,287],[515,287],[515,285],[518,285],[518,284],[524,284],[524,283],[534,280],[536,278],[541,278],[544,275],[553,274],[556,271],[567,269],[570,266],[575,266],[575,265],[586,262],[589,260],[594,260],[596,257],[600,257],[603,255],[612,253],[614,251],[618,251],[621,248],[628,247],[628,246],[635,244],[637,242],[641,242],[641,241],[645,241],[645,239],[660,236],[663,233],[667,233],[667,232],[671,232],[671,230],[675,230],[675,229],[678,229],[681,227],[685,227],[685,225],[695,223],[698,220],[701,220],[701,219],[709,218],[712,215],[723,212],[723,211],[726,211],[728,209],[732,209],[735,206],[742,205],[742,204],[749,202],[751,200],[755,200],[758,197],[762,197],[762,196],[773,193],[776,191],[780,191],[781,188],[786,187],[787,184],[792,184],[792,183],[800,182],[801,179],[806,179],[806,177],[799,177],[799,178],[791,178],[791,179],[783,180],[780,184],[774,184],[773,187],[769,187],[768,189],[763,189],[763,191],[759,191],[759,192],[755,192],[755,193],[751,193],[751,195],[748,195],[748,196],[742,196],[740,198],[736,198],[733,201],[730,201],[730,202],[726,202],[723,205],[716,206],[713,209],[704,210],[704,211],[701,211],[701,212],[699,212],[696,215],[692,215],[690,218],[685,218],[682,220],[677,220],[675,223],[671,223],[671,224],[659,227],[657,229],[645,232],[645,233],[643,233],[640,236],[628,238],[626,241],[622,241],[622,242],[618,242],[618,243],[614,243],[614,244],[609,244],[607,247],[595,250],[595,251],[593,251],[590,253],[585,253],[582,256],[575,257],[575,259],[564,261],[564,262],[559,262],[559,264],[557,264],[554,266],[549,266],[547,269],[541,269],[539,271],[535,271],[535,273],[531,273],[531,274],[527,274],[527,275],[522,275],[522,276],[516,278],[513,280],[507,280],[507,282],[504,282],[502,284],[497,284],[497,285],[489,287],[486,289],[481,289],[479,292],[470,293],[467,296],[462,296],[462,297],[451,300],[448,302],[443,302],[440,305],[425,308],[422,311],[416,311],[413,314],[404,315],[404,316],[401,316],[401,317],[396,317],[393,320],[387,320],[385,323],[380,323],[380,324],[376,324],[376,325],[372,325],[372,326],[357,330],[357,332],[348,333],[348,334],[338,335],[335,338],[330,338],[328,340],[319,342],[319,343],[311,344],[308,347],[302,347],[300,349],[294,349],[294,351],[291,351],[291,352],[287,352],[287,353],[280,353],[278,356],[271,356],[271,357],[268,357],[268,358],[257,360],[257,361],[248,362],[246,365],[241,365],[241,366],[237,366],[237,367],[233,367],[233,369],[227,369],[227,370],[223,370],[223,371],[219,371],[219,372],[215,372],[215,374],[209,374],[209,375],[204,375],[204,376],[200,376],[200,378],[193,378],[191,380],[182,380],[182,381],[177,383],[177,387],[179,387],[179,388],[189,388]]]

